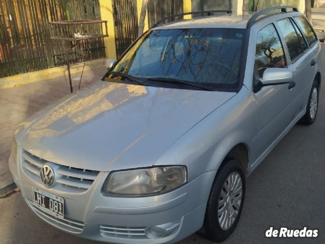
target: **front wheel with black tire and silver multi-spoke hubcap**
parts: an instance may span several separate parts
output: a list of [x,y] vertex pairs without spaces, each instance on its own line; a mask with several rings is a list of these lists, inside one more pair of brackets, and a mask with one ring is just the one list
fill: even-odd
[[[238,177],[240,177],[241,180],[241,187],[240,184],[236,187],[239,181]],[[234,179],[237,179],[237,181]],[[233,183],[234,187],[232,189],[235,189],[235,191],[228,191],[227,193],[226,186],[228,186],[229,183],[230,185]],[[241,198],[239,195],[240,193]],[[238,202],[239,198],[240,202]],[[237,199],[237,201],[235,199]],[[216,178],[214,179],[207,203],[204,229],[208,239],[221,242],[234,232],[241,215],[244,199],[245,177],[241,164],[235,159],[226,160],[221,168],[219,168]],[[219,204],[220,207],[218,206]],[[226,222],[226,220],[229,220],[229,213],[232,216],[231,224]],[[233,218],[234,214],[237,214],[236,218]],[[224,218],[225,216],[228,218]]]

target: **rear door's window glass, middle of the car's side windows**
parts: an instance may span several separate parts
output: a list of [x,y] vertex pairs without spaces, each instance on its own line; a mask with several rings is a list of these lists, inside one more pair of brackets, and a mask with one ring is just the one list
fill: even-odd
[[278,25],[283,33],[291,61],[294,62],[304,52],[296,29],[290,19],[281,19],[278,21]]

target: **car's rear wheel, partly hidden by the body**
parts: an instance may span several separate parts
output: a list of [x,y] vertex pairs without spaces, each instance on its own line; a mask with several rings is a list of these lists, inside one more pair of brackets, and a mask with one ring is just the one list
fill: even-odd
[[306,113],[299,120],[299,124],[311,125],[315,122],[317,111],[318,111],[318,97],[319,97],[319,89],[316,81],[314,81],[310,90],[308,103],[306,106]]

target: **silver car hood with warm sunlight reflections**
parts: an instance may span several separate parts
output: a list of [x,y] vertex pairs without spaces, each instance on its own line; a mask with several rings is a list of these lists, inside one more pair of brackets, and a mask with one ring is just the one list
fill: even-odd
[[99,171],[148,167],[234,95],[100,81],[26,120],[16,140],[61,165]]

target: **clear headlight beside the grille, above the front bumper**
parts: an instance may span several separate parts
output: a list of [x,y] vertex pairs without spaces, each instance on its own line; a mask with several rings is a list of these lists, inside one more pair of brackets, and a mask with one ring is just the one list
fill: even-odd
[[123,170],[109,174],[103,192],[125,196],[155,195],[170,192],[186,182],[185,166]]

